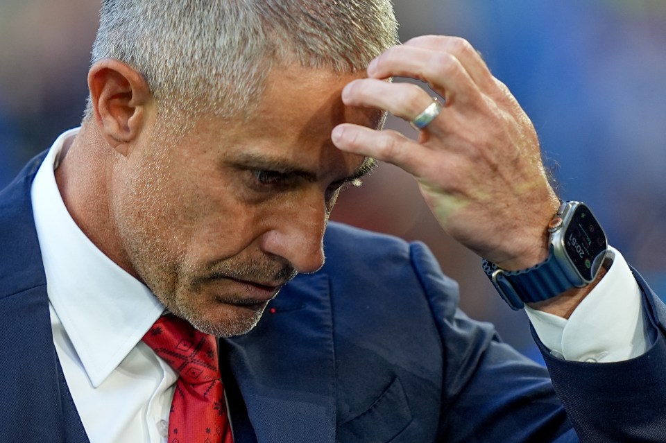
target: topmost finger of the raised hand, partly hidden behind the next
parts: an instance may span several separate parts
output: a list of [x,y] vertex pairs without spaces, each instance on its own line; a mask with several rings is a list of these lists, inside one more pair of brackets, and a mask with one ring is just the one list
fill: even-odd
[[408,40],[404,43],[404,46],[450,53],[461,62],[469,76],[481,89],[484,89],[484,86],[492,87],[493,74],[490,73],[490,69],[481,57],[481,53],[470,42],[461,37],[422,35]]

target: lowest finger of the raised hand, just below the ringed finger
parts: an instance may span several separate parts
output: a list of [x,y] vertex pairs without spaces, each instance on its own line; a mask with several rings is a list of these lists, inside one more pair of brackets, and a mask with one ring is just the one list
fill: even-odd
[[331,139],[340,150],[395,164],[412,175],[418,175],[429,158],[427,148],[394,130],[343,123],[334,128]]

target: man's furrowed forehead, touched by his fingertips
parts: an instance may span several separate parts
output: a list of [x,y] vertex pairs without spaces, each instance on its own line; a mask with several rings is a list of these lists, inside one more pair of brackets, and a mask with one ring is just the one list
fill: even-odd
[[[340,123],[377,128],[377,110],[345,106],[341,92],[361,73],[300,67],[275,68],[248,119],[217,125],[223,156],[262,158],[316,175],[350,175],[366,159],[334,147],[331,132]],[[214,132],[218,132],[214,130]],[[266,166],[267,167],[267,166]]]

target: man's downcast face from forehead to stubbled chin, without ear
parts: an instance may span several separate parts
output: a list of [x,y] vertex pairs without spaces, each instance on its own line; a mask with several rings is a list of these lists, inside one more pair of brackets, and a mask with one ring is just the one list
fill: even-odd
[[170,311],[217,336],[246,333],[296,272],[321,268],[339,189],[371,164],[330,140],[339,123],[379,121],[341,103],[357,77],[276,70],[250,121],[198,119],[177,145],[151,137],[120,166],[123,253]]

